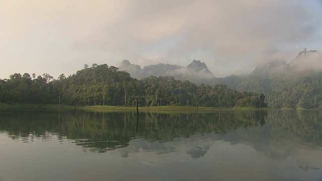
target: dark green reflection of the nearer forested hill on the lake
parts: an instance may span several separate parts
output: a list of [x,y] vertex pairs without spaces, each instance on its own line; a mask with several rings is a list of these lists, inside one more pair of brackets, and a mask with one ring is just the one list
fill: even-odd
[[[6,114],[0,121],[2,130],[13,139],[28,142],[34,138],[72,139],[76,145],[99,152],[127,146],[135,138],[151,142],[168,142],[209,132],[225,134],[237,128],[265,124],[267,112],[189,113],[134,112],[20,112]],[[122,121],[123,120],[123,121]]]

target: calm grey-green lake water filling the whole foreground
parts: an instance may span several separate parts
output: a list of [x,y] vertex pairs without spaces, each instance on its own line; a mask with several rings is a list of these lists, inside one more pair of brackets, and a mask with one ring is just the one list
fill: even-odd
[[322,180],[322,112],[0,110],[0,160],[0,181]]

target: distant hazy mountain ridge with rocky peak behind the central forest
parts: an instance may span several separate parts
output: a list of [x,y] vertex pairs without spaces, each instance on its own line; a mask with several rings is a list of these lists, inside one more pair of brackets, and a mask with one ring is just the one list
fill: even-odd
[[215,76],[208,69],[207,65],[200,60],[193,60],[187,67],[158,63],[141,68],[140,65],[131,64],[129,60],[123,60],[119,70],[127,71],[134,78],[141,79],[153,76],[172,76],[178,80],[189,80],[194,83],[209,83]]

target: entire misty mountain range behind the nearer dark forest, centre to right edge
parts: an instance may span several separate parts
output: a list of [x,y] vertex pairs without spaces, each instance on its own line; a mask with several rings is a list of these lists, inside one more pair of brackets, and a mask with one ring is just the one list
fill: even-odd
[[134,77],[173,76],[197,84],[224,84],[238,92],[263,93],[271,108],[310,109],[322,107],[322,53],[304,48],[293,60],[273,59],[242,75],[215,77],[204,62],[193,60],[187,67],[170,64],[141,68],[122,61],[120,70]]

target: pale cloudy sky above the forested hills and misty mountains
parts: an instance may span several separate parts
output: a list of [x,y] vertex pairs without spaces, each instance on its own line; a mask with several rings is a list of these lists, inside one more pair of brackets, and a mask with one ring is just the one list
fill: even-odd
[[0,0],[0,78],[57,78],[124,59],[249,73],[304,48],[322,51],[321,17],[321,0]]

